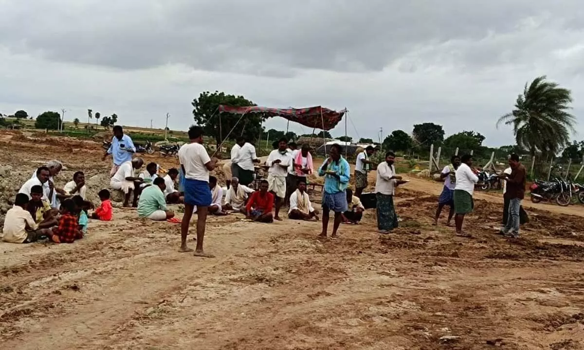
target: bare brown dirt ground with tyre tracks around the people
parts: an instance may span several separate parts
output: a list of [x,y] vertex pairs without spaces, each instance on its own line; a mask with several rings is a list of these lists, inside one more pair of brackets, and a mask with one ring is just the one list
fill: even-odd
[[[0,148],[27,174],[61,159],[62,183],[110,166],[97,143]],[[201,259],[177,252],[178,225],[115,209],[74,244],[0,243],[0,348],[584,349],[581,207],[527,208],[506,240],[500,195],[478,194],[463,239],[430,225],[441,184],[411,180],[383,237],[370,211],[325,241],[320,223],[230,215],[208,220],[217,258]]]

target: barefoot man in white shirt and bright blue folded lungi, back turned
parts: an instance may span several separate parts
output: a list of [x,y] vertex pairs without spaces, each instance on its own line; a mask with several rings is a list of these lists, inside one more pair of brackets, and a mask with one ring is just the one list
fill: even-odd
[[186,245],[186,236],[189,234],[190,218],[194,207],[197,207],[197,247],[194,255],[197,257],[213,258],[214,255],[205,253],[203,240],[207,223],[208,206],[211,205],[211,190],[209,188],[209,171],[217,166],[217,159],[210,159],[203,146],[203,129],[197,125],[189,128],[190,143],[185,143],[179,149],[180,167],[185,174],[185,214],[180,225],[180,252],[193,251]]

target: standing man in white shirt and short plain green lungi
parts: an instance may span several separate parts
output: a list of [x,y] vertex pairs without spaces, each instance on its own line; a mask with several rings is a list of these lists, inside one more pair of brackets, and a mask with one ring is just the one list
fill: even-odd
[[472,212],[474,202],[472,194],[475,184],[478,183],[478,176],[472,171],[472,156],[461,157],[461,164],[456,170],[456,187],[454,187],[454,222],[456,223],[456,234],[461,237],[470,237],[463,232],[464,216]]

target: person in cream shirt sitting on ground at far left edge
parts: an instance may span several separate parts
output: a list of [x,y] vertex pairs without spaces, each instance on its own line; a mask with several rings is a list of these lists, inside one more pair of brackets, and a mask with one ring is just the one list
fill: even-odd
[[6,212],[2,240],[8,243],[31,243],[51,235],[50,229],[39,229],[30,212],[26,210],[29,196],[16,195],[14,206]]

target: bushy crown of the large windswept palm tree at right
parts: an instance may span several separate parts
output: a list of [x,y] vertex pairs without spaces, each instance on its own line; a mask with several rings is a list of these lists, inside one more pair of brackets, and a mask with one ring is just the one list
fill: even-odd
[[547,81],[545,75],[539,76],[525,84],[515,109],[500,117],[497,127],[502,122],[513,125],[517,145],[529,150],[532,157],[537,152],[555,155],[575,132],[576,118],[568,113],[571,102],[571,90],[559,88],[558,83]]

